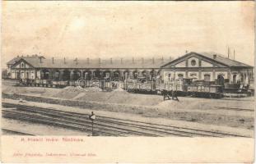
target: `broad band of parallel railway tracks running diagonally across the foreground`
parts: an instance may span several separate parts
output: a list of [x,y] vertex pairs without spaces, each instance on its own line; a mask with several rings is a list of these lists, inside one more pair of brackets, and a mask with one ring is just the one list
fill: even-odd
[[[2,110],[2,116],[6,118],[91,132],[91,121],[87,114],[12,103],[2,103],[2,106],[5,107]],[[94,132],[95,135],[104,136],[248,137],[221,131],[198,130],[175,125],[158,125],[107,116],[97,116],[97,119],[94,121]]]

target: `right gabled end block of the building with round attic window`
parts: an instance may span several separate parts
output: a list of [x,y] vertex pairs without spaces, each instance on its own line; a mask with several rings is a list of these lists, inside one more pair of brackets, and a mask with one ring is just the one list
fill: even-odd
[[229,84],[254,83],[254,67],[223,57],[214,52],[189,52],[161,66],[165,81],[192,78],[216,81],[223,78]]

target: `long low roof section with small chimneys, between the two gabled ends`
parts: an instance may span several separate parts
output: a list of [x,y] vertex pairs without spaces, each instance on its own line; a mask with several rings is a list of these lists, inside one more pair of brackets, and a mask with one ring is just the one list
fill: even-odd
[[[77,62],[75,60],[68,60],[66,59],[65,63],[63,59],[42,59],[40,62],[40,57],[20,57],[20,59],[24,59],[28,62],[31,66],[36,68],[105,68],[105,69],[128,69],[128,68],[160,68],[165,62],[170,62],[169,60],[162,60],[160,58],[134,58],[133,59],[101,59],[99,63],[99,59],[90,59],[89,63],[87,60],[80,60],[78,59]],[[16,59],[17,62],[17,59]]]

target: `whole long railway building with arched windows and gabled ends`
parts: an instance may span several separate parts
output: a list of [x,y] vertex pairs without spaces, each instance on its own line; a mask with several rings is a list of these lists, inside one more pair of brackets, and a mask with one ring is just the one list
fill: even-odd
[[11,79],[41,80],[161,78],[164,82],[184,78],[213,82],[223,78],[230,84],[249,84],[254,81],[254,67],[214,52],[189,52],[175,60],[163,57],[67,60],[31,55],[17,56],[7,62],[7,76]]

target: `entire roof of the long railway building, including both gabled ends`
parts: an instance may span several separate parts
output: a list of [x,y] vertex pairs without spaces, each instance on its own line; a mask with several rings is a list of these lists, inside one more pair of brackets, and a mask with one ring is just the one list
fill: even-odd
[[[186,57],[190,54],[197,54],[202,57],[207,57],[210,60],[219,62],[225,66],[230,66],[230,67],[253,67],[249,66],[247,64],[244,64],[242,62],[237,62],[235,60],[231,60],[227,57],[224,57],[221,54],[218,54],[216,52],[189,52],[185,54],[182,57],[179,57],[175,59],[174,61],[171,61],[170,59],[168,60],[162,60],[161,58],[155,58],[154,61],[151,58],[145,58],[142,60],[142,58],[134,58],[134,62],[132,59],[123,59],[121,61],[120,59],[113,59],[112,62],[110,59],[101,59],[99,63],[99,59],[90,59],[89,63],[87,60],[80,60],[78,59],[77,62],[75,62],[73,59],[68,60],[66,59],[66,62],[64,64],[63,59],[54,59],[54,63],[52,59],[45,59],[43,56],[38,56],[38,55],[32,55],[28,57],[15,57],[11,61],[7,62],[7,64],[15,64],[19,60],[24,59],[26,62],[30,63],[30,65],[36,67],[36,68],[105,68],[105,69],[115,69],[115,68],[120,68],[120,69],[131,69],[131,68],[161,68],[163,66],[169,65],[170,62],[175,62],[177,60],[180,60],[183,57]],[[216,54],[216,58],[213,58],[213,55]],[[42,62],[40,62],[40,57],[43,57]]]

